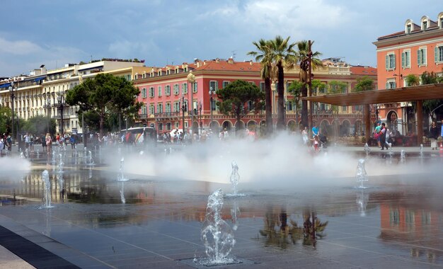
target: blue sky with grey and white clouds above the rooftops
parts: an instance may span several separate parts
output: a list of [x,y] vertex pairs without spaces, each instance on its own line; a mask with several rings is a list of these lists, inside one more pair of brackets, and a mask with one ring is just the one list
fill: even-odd
[[0,77],[91,59],[144,59],[164,67],[193,59],[253,59],[253,41],[313,40],[321,58],[376,67],[372,42],[407,19],[437,20],[441,1],[2,0]]

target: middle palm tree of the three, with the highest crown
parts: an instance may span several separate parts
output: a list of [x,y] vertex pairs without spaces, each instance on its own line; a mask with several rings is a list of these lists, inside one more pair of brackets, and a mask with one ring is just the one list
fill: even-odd
[[289,38],[282,38],[277,35],[274,40],[270,40],[272,52],[270,58],[275,63],[278,71],[278,86],[277,86],[277,130],[284,129],[284,67],[292,67],[297,63],[297,55],[294,47],[297,43],[289,44]]

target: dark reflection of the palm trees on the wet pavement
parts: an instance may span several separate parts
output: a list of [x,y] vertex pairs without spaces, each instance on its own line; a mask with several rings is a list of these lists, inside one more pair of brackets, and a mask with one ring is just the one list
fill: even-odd
[[[265,246],[278,246],[287,248],[291,243],[296,244],[302,240],[304,246],[316,246],[317,239],[323,238],[328,222],[321,222],[316,217],[316,212],[304,210],[303,227],[299,227],[297,222],[290,219],[287,224],[287,212],[281,210],[280,213],[268,210],[265,214],[265,229],[260,230],[260,235],[266,238]],[[280,227],[278,229],[277,227]],[[277,228],[277,229],[276,229]]]

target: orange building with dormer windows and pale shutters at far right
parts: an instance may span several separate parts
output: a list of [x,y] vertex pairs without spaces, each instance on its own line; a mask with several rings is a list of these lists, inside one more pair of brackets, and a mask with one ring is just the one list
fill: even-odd
[[[401,88],[405,76],[423,72],[443,74],[443,12],[432,21],[422,16],[420,22],[407,20],[398,33],[384,35],[374,42],[377,53],[378,88]],[[379,118],[401,134],[417,132],[415,113],[408,102],[379,104]]]

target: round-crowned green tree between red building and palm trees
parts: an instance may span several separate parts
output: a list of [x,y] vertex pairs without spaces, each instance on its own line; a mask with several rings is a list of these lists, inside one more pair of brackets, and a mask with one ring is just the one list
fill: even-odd
[[237,120],[236,130],[238,131],[242,115],[247,115],[250,112],[258,113],[263,108],[265,93],[260,91],[260,88],[255,84],[236,80],[219,89],[217,97],[221,100],[217,101],[220,113],[235,117]]

